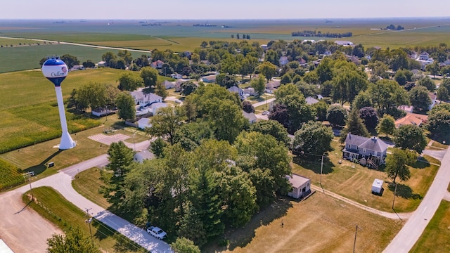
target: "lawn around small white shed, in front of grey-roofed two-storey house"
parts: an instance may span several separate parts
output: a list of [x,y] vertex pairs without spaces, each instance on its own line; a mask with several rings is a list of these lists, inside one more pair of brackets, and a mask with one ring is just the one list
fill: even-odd
[[[342,153],[338,142],[333,141],[335,149],[329,155],[329,159],[323,162],[322,186],[326,190],[338,193],[351,200],[355,200],[368,207],[392,212],[392,200],[394,198],[394,187],[390,185],[384,171],[368,169],[359,164],[342,160]],[[294,157],[293,172],[307,176],[313,183],[319,185],[321,171],[321,157],[314,160],[300,160]],[[425,155],[428,162],[439,164],[438,160]],[[338,161],[342,160],[342,164]],[[410,168],[411,179],[406,182],[398,181],[397,197],[395,199],[396,212],[412,212],[425,196],[432,180],[435,178],[438,166],[425,162],[416,162]],[[385,181],[383,185],[383,196],[373,195],[371,186],[374,179]]]

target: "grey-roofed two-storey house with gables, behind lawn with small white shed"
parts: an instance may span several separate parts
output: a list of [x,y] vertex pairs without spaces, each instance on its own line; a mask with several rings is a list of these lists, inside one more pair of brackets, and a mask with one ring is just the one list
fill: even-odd
[[357,159],[361,165],[378,169],[378,166],[385,164],[386,151],[387,144],[375,136],[367,138],[349,133],[345,138],[342,158]]

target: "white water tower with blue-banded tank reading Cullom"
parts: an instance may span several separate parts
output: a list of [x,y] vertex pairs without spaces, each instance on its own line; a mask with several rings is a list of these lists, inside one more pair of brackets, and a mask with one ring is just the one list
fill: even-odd
[[60,58],[53,57],[46,60],[42,65],[42,73],[53,84],[55,84],[56,100],[58,100],[59,117],[61,121],[61,142],[59,144],[60,150],[67,150],[75,147],[75,141],[72,140],[68,131],[68,124],[65,119],[63,92],[61,91],[61,83],[68,76],[68,66],[65,65]]

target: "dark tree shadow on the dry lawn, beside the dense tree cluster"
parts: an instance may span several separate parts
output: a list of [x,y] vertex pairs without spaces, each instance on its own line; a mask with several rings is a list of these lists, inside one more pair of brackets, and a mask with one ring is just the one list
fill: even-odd
[[[290,197],[278,197],[276,202],[255,214],[245,226],[242,228],[228,228],[224,235],[208,243],[203,249],[205,252],[222,252],[226,249],[233,250],[236,247],[245,247],[255,238],[257,228],[265,226],[287,214],[288,209],[293,207],[290,200],[292,200]],[[228,247],[218,246],[224,241],[229,242]]]

